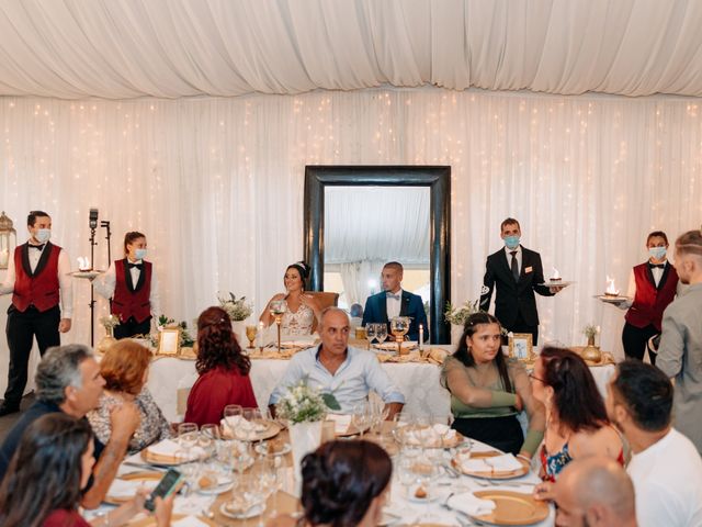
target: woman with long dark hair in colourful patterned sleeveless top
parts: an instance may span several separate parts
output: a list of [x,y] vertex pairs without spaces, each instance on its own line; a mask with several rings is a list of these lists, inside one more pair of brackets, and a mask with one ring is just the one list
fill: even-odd
[[551,497],[551,482],[576,458],[605,456],[624,464],[622,438],[607,417],[604,401],[585,360],[569,349],[544,348],[531,375],[534,397],[546,407],[541,450],[540,498]]

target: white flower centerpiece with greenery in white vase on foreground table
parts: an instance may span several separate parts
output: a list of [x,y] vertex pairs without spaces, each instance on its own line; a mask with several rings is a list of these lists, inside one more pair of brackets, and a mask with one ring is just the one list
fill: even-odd
[[293,469],[298,481],[303,458],[321,442],[321,424],[329,410],[341,410],[337,397],[310,386],[307,379],[290,386],[275,405],[275,415],[288,424]]

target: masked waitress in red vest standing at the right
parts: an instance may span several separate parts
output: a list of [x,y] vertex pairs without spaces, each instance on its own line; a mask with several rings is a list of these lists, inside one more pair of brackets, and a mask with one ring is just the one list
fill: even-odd
[[[643,360],[646,343],[660,333],[663,312],[676,296],[678,273],[666,258],[668,236],[654,231],[646,238],[648,261],[634,267],[629,282],[629,296],[634,299],[620,305],[629,309],[624,318],[622,343],[626,357]],[[656,354],[648,350],[650,363],[656,363]]]

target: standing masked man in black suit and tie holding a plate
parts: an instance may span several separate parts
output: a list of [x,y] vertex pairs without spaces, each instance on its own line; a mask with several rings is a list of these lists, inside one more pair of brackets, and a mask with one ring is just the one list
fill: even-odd
[[497,287],[495,316],[509,332],[531,333],[535,346],[539,343],[539,313],[534,291],[553,296],[563,288],[544,285],[541,256],[519,244],[521,235],[519,222],[513,217],[500,225],[505,247],[487,257],[480,310],[488,311],[492,289]]

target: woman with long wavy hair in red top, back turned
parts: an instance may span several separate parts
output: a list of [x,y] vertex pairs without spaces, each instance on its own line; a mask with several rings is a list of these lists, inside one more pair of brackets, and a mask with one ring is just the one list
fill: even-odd
[[249,379],[251,361],[231,330],[231,319],[222,307],[208,307],[197,318],[200,377],[188,396],[186,423],[219,424],[224,407],[238,404],[258,408]]

